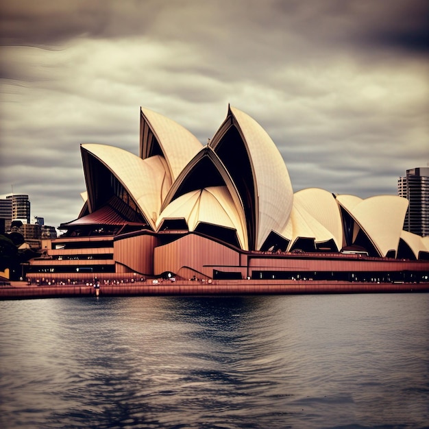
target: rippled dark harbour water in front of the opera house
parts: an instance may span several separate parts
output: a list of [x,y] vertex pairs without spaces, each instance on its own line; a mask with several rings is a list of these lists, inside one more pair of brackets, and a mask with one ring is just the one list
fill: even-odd
[[427,428],[429,294],[0,302],[2,428]]

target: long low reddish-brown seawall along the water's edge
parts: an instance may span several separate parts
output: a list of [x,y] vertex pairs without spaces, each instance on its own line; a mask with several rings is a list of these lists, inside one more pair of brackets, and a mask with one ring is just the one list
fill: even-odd
[[[428,283],[358,283],[326,281],[272,280],[213,280],[208,282],[163,282],[151,284],[136,282],[128,284],[101,285],[102,296],[199,296],[199,295],[288,295],[317,293],[404,293],[429,292]],[[31,299],[52,297],[95,296],[93,286],[28,286],[23,282],[12,282],[0,288],[0,299]]]

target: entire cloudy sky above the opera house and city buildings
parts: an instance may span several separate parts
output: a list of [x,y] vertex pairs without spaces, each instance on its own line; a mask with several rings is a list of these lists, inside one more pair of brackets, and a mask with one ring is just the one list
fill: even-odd
[[395,194],[429,162],[426,0],[0,0],[0,195],[75,219],[79,145],[138,154],[140,106],[201,143],[228,103],[294,191]]

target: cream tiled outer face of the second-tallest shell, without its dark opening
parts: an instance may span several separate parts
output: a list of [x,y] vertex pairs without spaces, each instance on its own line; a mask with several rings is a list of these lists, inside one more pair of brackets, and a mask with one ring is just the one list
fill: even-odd
[[191,132],[172,119],[146,108],[141,112],[158,140],[174,181],[202,145]]

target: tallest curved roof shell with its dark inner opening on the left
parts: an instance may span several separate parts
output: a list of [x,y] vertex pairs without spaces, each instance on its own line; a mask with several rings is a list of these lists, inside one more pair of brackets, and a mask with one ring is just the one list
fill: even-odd
[[[240,138],[230,138],[234,129]],[[249,247],[260,249],[271,231],[284,230],[292,210],[293,189],[283,158],[267,132],[232,107],[209,145],[228,169],[247,210]]]

